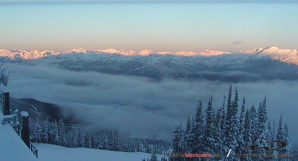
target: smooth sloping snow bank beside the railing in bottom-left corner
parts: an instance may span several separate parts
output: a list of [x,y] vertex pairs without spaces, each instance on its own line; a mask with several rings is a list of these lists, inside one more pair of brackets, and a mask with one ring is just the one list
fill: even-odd
[[0,112],[0,161],[37,161],[10,124],[3,124]]

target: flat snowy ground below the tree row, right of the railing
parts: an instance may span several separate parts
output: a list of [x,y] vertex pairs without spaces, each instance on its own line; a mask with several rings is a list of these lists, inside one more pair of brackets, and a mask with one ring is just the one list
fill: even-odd
[[[151,154],[107,151],[89,148],[65,148],[44,143],[33,143],[38,149],[38,160],[42,161],[142,161]],[[156,155],[160,160],[164,155]]]

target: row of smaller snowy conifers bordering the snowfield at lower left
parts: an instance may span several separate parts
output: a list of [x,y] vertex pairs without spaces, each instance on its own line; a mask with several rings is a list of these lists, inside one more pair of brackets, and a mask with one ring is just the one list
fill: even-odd
[[143,138],[119,137],[118,130],[110,130],[109,134],[95,133],[85,129],[71,129],[66,134],[63,119],[58,122],[42,123],[30,121],[30,141],[33,143],[48,143],[68,148],[93,148],[110,151],[146,152],[164,154],[169,151],[170,142]]

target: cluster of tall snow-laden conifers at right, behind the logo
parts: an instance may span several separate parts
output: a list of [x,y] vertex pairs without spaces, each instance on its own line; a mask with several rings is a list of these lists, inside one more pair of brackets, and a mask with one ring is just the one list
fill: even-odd
[[[259,104],[259,107],[252,105],[246,107],[245,98],[239,111],[239,99],[237,87],[235,97],[232,99],[232,85],[229,88],[227,103],[226,97],[220,108],[215,112],[212,106],[212,97],[209,98],[206,115],[203,113],[203,102],[199,101],[195,115],[187,118],[186,128],[182,129],[181,123],[176,125],[173,131],[173,153],[209,153],[221,154],[216,158],[201,157],[173,157],[169,161],[195,161],[195,160],[229,160],[229,161],[288,161],[289,157],[235,157],[234,154],[293,154],[292,147],[289,144],[290,135],[288,125],[283,125],[283,117],[280,115],[280,121],[276,129],[276,121],[273,125],[268,121],[266,110],[266,96]],[[249,145],[256,147],[268,146],[274,149],[280,146],[278,143],[265,143],[266,141],[283,141],[288,146],[276,150],[265,151],[263,149],[252,151],[249,148],[243,149]],[[229,149],[232,149],[229,157],[226,157]],[[265,155],[264,155],[265,156]]]

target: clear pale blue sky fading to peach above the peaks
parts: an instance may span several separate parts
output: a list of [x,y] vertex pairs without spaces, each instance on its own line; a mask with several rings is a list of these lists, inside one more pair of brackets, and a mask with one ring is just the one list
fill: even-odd
[[298,49],[297,1],[38,2],[0,3],[0,49]]

